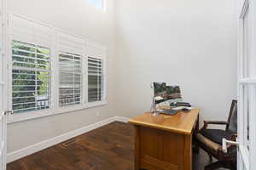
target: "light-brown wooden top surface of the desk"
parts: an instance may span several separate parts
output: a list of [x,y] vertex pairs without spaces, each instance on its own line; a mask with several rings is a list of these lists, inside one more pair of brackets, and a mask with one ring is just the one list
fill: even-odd
[[174,116],[160,114],[153,116],[152,113],[144,113],[131,119],[129,122],[143,127],[153,127],[173,133],[190,134],[195,125],[200,109],[189,112],[179,111]]

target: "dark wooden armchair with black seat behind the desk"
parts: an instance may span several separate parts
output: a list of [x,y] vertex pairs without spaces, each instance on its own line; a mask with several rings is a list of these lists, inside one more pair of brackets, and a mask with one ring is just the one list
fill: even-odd
[[[207,128],[209,124],[225,125],[225,130]],[[195,142],[202,150],[205,150],[212,161],[212,157],[218,161],[205,167],[205,170],[213,170],[219,167],[236,170],[236,146],[230,145],[228,152],[222,150],[222,139],[236,141],[237,133],[237,101],[233,100],[230,107],[230,116],[227,122],[205,121],[204,127],[197,133]]]

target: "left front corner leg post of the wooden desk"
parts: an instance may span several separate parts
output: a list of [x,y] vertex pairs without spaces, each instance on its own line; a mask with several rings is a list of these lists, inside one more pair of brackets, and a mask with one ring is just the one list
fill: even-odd
[[134,169],[140,170],[140,133],[139,126],[134,125]]

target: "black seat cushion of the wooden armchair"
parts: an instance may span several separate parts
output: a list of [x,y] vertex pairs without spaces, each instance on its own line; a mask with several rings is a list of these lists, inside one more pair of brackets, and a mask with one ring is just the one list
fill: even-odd
[[231,139],[233,134],[221,129],[201,129],[200,133],[217,144],[222,144],[222,139]]

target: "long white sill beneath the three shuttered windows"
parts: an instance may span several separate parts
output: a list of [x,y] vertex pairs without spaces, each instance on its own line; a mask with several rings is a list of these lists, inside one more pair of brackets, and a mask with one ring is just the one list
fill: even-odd
[[48,109],[45,111],[31,111],[27,113],[14,114],[8,117],[8,124],[15,123],[15,122],[24,122],[32,119],[38,119],[45,116],[55,116],[58,114],[64,114],[71,111],[90,109],[93,107],[100,107],[103,105],[108,105],[107,100],[87,103],[84,105],[67,106],[67,107],[59,108],[58,110],[55,110],[55,111],[54,109]]

